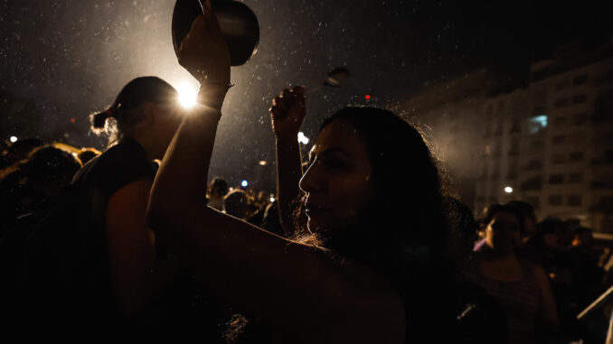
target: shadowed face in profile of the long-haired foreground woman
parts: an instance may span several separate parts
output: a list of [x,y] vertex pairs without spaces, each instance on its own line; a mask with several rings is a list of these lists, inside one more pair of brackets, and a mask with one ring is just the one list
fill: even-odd
[[307,194],[308,229],[312,232],[351,228],[373,197],[372,166],[354,126],[336,120],[325,126],[311,149],[300,180]]

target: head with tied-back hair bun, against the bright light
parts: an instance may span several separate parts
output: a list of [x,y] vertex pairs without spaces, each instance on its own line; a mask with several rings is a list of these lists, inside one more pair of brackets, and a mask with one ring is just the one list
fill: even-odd
[[92,115],[91,127],[96,133],[109,134],[110,144],[131,137],[156,155],[151,159],[160,159],[183,114],[178,93],[170,84],[156,77],[141,77],[128,82],[107,110]]

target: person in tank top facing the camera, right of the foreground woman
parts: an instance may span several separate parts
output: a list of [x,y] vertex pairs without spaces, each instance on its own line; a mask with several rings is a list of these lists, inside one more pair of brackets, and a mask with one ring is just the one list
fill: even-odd
[[547,274],[542,266],[516,254],[522,214],[514,207],[495,204],[489,207],[485,222],[486,242],[475,254],[471,280],[505,309],[510,343],[555,339],[559,318]]

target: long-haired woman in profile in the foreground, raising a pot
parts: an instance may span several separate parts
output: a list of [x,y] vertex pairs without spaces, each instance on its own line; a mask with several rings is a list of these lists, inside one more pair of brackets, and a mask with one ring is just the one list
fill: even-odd
[[[439,173],[420,133],[399,116],[347,107],[324,122],[299,182],[307,223],[296,228],[320,246],[203,207],[202,177],[230,82],[227,47],[209,1],[204,15],[179,57],[201,82],[202,105],[184,117],[156,175],[148,209],[156,234],[212,291],[269,326],[276,340],[453,338],[451,331],[431,330],[450,329],[454,321]],[[297,145],[304,89],[285,90],[271,113],[278,141],[284,133]],[[293,161],[300,166],[298,152]],[[407,181],[400,190],[399,180]]]

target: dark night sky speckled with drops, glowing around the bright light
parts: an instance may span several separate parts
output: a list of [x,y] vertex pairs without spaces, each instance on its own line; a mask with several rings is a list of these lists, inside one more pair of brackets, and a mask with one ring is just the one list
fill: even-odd
[[[304,131],[312,137],[339,107],[394,106],[481,66],[510,73],[519,86],[531,60],[551,56],[562,43],[598,42],[611,33],[605,1],[243,2],[259,18],[259,51],[232,69],[236,86],[226,98],[212,162],[212,174],[233,184],[274,175],[271,164],[258,161],[272,161],[274,153],[270,99],[291,84],[315,88],[337,66],[352,72],[343,88],[310,95]],[[40,135],[102,148],[105,141],[89,133],[88,115],[108,106],[127,81],[156,75],[195,86],[174,57],[173,6],[172,0],[2,0],[2,138]]]

